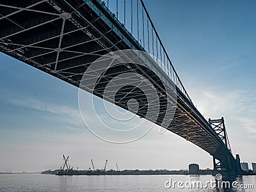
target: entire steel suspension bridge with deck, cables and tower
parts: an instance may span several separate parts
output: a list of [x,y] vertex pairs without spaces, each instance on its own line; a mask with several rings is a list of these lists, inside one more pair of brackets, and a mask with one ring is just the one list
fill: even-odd
[[[0,26],[1,52],[77,87],[90,65],[109,52],[136,50],[152,54],[161,64],[147,58],[150,70],[129,62],[117,65],[106,70],[104,76],[95,76],[97,84],[93,89],[84,90],[104,98],[106,84],[118,74],[133,72],[134,76],[147,77],[160,100],[155,123],[211,154],[216,172],[241,173],[239,156],[235,159],[230,149],[224,119],[207,121],[196,109],[142,0],[1,0]],[[99,65],[99,69],[104,67]],[[163,84],[177,100],[170,124],[163,122],[167,113]],[[126,99],[125,92],[130,93]],[[147,111],[154,111],[143,93],[138,95],[131,88],[122,93],[122,99],[108,100],[129,109],[128,100],[136,99],[141,108],[136,114],[143,118],[147,118]]]

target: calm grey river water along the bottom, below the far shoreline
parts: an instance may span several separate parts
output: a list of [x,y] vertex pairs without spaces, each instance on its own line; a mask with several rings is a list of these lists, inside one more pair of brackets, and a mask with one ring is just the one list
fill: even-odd
[[[210,184],[211,181],[216,182],[216,186]],[[196,185],[196,182],[201,182],[202,187]],[[235,184],[232,188],[233,182]],[[252,186],[254,189],[243,189]],[[256,191],[256,176],[237,177],[230,180],[230,188],[225,188],[225,184],[218,186],[218,180],[211,175],[8,174],[0,175],[0,191]]]

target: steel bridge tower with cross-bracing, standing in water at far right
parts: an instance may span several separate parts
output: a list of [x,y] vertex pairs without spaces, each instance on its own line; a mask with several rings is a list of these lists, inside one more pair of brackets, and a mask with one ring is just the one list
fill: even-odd
[[[209,118],[209,125],[212,127],[212,129],[218,134],[221,141],[223,141],[224,145],[226,145],[227,149],[229,150],[230,154],[232,155],[230,143],[228,141],[228,135],[224,123],[224,118],[221,117],[220,119],[212,120]],[[226,173],[226,174],[232,174],[232,175],[239,175],[241,173],[241,165],[240,165],[240,158],[237,154],[236,161],[232,161],[231,159],[233,156],[225,156],[223,158],[222,154],[216,154],[216,156],[212,155],[213,157],[213,173]],[[220,158],[221,157],[221,158]],[[220,161],[220,159],[225,159],[225,161]]]

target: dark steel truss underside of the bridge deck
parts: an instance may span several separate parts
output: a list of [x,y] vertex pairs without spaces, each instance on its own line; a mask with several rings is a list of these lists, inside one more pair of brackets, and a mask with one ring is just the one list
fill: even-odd
[[[77,87],[86,69],[100,56],[122,49],[143,51],[141,45],[106,13],[98,1],[92,3],[102,15],[82,0],[2,0],[0,51]],[[99,77],[99,84],[93,93],[103,97],[101,93],[106,79],[110,81],[116,74],[131,72],[131,68],[135,70],[134,75],[150,77],[159,100],[162,99],[160,111],[163,113],[159,113],[156,124],[195,143],[223,164],[235,161],[216,132],[177,87],[173,90],[173,93],[177,94],[177,106],[172,123],[168,126],[162,125],[161,115],[164,114],[166,106],[161,95],[166,95],[166,92],[163,81],[157,77],[154,70],[136,68],[136,65],[131,63],[118,65],[108,70],[104,79]],[[157,69],[159,68],[156,66]],[[132,97],[139,103],[147,102],[143,94],[134,93]],[[115,100],[109,101],[128,109],[127,100],[118,100],[116,97]],[[145,108],[139,109],[138,115],[146,117],[146,114]]]

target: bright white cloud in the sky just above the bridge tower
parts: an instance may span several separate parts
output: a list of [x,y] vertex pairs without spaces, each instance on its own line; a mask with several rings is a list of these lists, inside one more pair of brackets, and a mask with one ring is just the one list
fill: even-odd
[[[256,97],[253,92],[233,90],[229,92],[204,90],[193,94],[194,104],[209,118],[232,116],[247,132],[256,134]],[[256,138],[252,136],[251,138]]]

